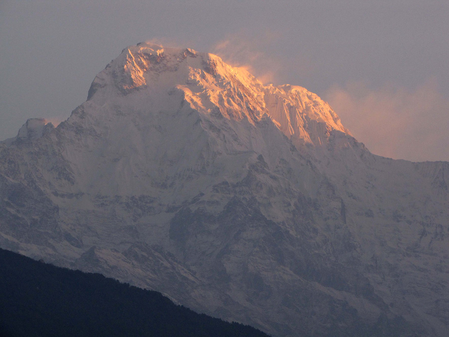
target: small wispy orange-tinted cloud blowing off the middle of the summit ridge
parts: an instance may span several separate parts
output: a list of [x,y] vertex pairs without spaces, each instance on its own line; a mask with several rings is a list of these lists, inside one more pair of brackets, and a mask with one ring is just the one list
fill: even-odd
[[268,52],[275,41],[276,35],[269,32],[257,37],[244,33],[230,34],[213,46],[212,53],[232,66],[244,68],[262,83],[272,83],[282,67],[275,55]]

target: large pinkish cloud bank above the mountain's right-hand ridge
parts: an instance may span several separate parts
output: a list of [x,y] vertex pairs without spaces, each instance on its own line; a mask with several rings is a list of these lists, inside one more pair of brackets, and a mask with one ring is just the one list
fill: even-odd
[[324,98],[356,139],[394,159],[449,161],[449,100],[429,80],[414,90],[364,82],[335,85]]

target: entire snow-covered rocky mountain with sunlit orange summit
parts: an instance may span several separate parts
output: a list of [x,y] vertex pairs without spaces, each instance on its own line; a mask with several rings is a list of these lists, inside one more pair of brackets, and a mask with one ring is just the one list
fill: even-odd
[[139,43],[0,143],[0,247],[273,336],[448,336],[448,185],[302,87]]

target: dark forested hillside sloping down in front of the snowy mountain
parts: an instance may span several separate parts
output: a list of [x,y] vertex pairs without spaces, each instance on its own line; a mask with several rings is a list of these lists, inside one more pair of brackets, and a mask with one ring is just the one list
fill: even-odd
[[266,337],[160,293],[0,249],[0,336]]

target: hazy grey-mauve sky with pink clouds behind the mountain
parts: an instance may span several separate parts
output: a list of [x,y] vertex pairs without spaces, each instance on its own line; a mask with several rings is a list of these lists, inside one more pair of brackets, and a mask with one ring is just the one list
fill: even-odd
[[449,161],[448,0],[0,0],[0,139],[66,119],[145,40],[304,86],[375,154]]

